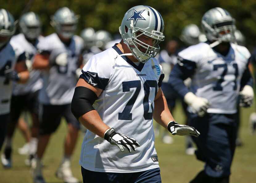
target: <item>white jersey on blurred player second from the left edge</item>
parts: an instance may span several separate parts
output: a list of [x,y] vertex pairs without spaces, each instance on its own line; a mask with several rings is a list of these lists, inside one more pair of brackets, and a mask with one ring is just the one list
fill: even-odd
[[[35,54],[37,53],[37,44],[42,41],[43,36],[39,36],[35,45],[28,42],[24,34],[18,34],[13,36],[10,40],[10,44],[13,46],[14,51],[17,55],[25,52],[26,62],[33,63]],[[29,80],[25,84],[18,84],[14,82],[13,95],[23,95],[30,92],[40,90],[43,86],[42,79],[40,78],[40,70],[31,70],[29,74]]]

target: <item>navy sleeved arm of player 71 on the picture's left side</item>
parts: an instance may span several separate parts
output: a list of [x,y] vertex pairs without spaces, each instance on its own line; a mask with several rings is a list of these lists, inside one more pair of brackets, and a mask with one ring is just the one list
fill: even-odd
[[173,67],[168,83],[182,98],[189,92],[183,81],[191,77],[195,70],[195,62],[178,57],[178,63]]

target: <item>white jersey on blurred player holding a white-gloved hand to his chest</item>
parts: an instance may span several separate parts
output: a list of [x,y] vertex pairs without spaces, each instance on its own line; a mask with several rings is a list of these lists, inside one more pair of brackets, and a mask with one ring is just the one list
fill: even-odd
[[[77,82],[76,69],[78,58],[83,48],[83,39],[74,35],[71,42],[66,46],[61,42],[56,33],[53,33],[39,42],[38,49],[47,51],[50,54],[68,54],[67,66],[52,66],[49,70],[41,72],[43,88],[39,93],[39,101],[43,104],[65,105],[70,104],[74,95]],[[58,50],[58,51],[56,51]],[[56,55],[57,56],[57,55]]]

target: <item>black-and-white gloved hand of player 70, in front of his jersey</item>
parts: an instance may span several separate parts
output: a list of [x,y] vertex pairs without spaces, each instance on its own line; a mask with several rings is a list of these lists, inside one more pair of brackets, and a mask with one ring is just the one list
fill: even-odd
[[136,146],[140,146],[134,138],[130,138],[122,133],[117,133],[114,128],[105,131],[104,139],[109,141],[112,145],[117,145],[122,152],[124,152],[124,147],[131,152],[131,149],[136,151]]

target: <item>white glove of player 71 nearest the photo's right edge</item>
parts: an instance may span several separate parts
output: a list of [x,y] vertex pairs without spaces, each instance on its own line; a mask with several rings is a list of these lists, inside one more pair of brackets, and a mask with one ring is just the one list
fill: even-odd
[[253,103],[254,91],[249,85],[244,86],[243,90],[240,92],[240,107],[250,107]]

